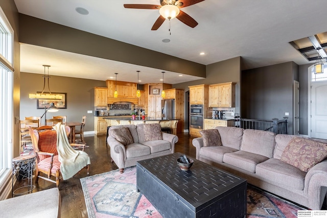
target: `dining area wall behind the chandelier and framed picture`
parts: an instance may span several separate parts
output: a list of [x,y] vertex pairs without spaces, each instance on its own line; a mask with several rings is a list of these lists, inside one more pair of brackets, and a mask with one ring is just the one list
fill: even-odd
[[[21,72],[20,119],[25,119],[25,116],[41,116],[44,113],[44,109],[36,109],[36,100],[29,99],[28,95],[29,93],[42,91],[42,76],[41,74]],[[81,122],[82,116],[86,115],[84,131],[94,131],[94,87],[106,87],[106,82],[58,76],[51,76],[49,81],[51,92],[67,93],[67,109],[59,109],[58,112],[54,113],[48,112],[46,113],[46,118],[66,115],[67,122]],[[48,91],[47,85],[44,91]],[[92,113],[87,113],[88,110],[91,110]],[[43,124],[44,117],[42,118]]]

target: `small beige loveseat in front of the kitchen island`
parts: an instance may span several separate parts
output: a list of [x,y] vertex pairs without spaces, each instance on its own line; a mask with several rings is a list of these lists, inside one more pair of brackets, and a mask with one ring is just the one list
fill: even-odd
[[161,132],[159,124],[112,126],[108,134],[110,156],[121,173],[139,160],[174,153],[178,141],[176,135]]

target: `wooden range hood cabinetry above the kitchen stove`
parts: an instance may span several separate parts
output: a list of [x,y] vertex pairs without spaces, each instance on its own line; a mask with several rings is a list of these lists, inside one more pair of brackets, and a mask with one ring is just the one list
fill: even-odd
[[[136,97],[137,83],[115,80],[107,80],[106,83],[108,87],[108,104],[112,104],[114,102],[132,102],[135,105],[138,104],[138,98]],[[115,90],[118,92],[118,98],[113,98],[113,93]]]

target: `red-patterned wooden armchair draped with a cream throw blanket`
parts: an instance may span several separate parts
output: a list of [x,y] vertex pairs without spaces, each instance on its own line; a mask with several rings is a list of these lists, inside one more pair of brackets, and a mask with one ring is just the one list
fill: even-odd
[[[65,133],[68,136],[71,132],[71,128],[64,126]],[[33,150],[36,155],[35,163],[35,183],[38,183],[38,179],[44,179],[56,183],[59,187],[60,179],[62,178],[59,161],[59,154],[57,151],[57,132],[52,126],[42,126],[37,129],[29,129]],[[68,140],[68,139],[67,139]],[[89,175],[89,164],[83,165],[80,161],[72,161],[72,168],[80,171],[83,168],[87,169],[87,175]],[[41,174],[42,173],[42,174]],[[51,179],[51,177],[55,177]]]

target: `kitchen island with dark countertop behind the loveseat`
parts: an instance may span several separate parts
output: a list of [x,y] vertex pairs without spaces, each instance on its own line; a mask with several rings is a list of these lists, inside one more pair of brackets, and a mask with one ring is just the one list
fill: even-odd
[[129,117],[117,117],[117,116],[110,116],[104,117],[107,121],[107,126],[118,126],[118,125],[137,125],[137,124],[160,124],[162,127],[168,127],[172,130],[172,134],[177,134],[177,123],[179,119],[165,119],[165,118],[149,118],[146,117],[145,119],[135,117],[132,119],[131,116]]

